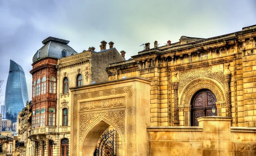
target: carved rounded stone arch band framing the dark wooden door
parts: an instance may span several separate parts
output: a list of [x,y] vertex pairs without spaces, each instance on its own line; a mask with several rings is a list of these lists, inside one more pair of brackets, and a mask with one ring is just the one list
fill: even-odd
[[217,102],[225,101],[224,88],[218,82],[209,78],[198,78],[189,82],[181,91],[179,105],[190,105],[195,92],[204,88],[211,90],[215,94]]

